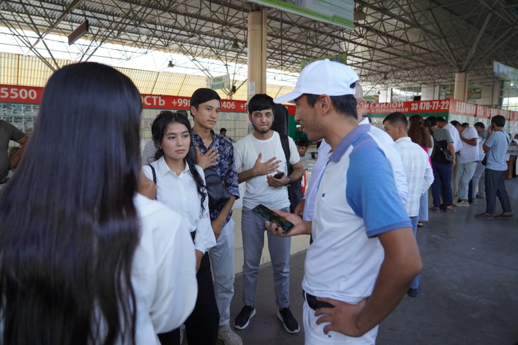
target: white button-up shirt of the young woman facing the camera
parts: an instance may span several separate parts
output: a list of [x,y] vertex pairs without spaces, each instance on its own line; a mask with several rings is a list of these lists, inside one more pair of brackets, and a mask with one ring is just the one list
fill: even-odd
[[[212,231],[209,218],[209,197],[205,198],[202,212],[200,196],[196,182],[194,181],[189,165],[177,176],[167,166],[164,157],[151,163],[156,172],[156,200],[174,209],[184,218],[182,227],[189,231],[196,231],[194,248],[205,254],[207,250],[216,245],[216,238]],[[202,168],[195,166],[198,174],[205,184],[205,175]],[[153,173],[149,166],[142,167],[146,176],[153,180]]]

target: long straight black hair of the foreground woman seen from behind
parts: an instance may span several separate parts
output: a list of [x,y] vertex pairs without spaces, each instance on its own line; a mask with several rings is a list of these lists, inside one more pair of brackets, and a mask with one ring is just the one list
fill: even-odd
[[57,70],[0,193],[3,344],[135,343],[141,99],[117,70]]

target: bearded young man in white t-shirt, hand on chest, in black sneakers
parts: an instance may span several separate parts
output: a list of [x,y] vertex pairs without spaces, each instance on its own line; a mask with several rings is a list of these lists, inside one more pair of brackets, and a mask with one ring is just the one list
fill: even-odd
[[[258,204],[270,209],[290,212],[286,186],[300,179],[304,173],[297,147],[288,138],[290,159],[286,162],[279,133],[271,130],[274,122],[274,100],[266,94],[257,94],[248,102],[249,119],[254,131],[239,140],[234,147],[239,183],[247,182],[243,197],[241,232],[243,237],[243,303],[234,321],[237,329],[246,328],[255,315],[257,276],[264,246],[264,220],[252,213]],[[287,164],[293,172],[287,176]],[[283,173],[275,178],[277,173]],[[290,311],[290,238],[280,238],[268,232],[268,250],[274,269],[277,318],[289,333],[300,331]]]

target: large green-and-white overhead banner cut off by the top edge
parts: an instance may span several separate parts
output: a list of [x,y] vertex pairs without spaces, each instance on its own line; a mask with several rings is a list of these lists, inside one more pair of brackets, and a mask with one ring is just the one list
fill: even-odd
[[354,27],[353,0],[252,0],[251,2],[298,14],[319,22],[335,24],[349,30]]

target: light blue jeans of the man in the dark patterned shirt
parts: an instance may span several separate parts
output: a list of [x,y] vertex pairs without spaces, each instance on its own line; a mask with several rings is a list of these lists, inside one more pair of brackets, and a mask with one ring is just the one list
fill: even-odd
[[230,219],[209,251],[214,275],[214,295],[220,312],[220,326],[230,323],[230,302],[234,296],[234,219]]

